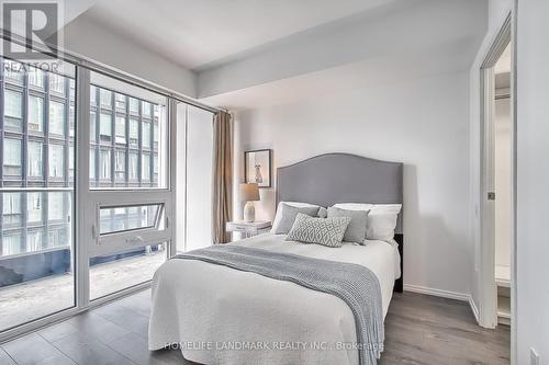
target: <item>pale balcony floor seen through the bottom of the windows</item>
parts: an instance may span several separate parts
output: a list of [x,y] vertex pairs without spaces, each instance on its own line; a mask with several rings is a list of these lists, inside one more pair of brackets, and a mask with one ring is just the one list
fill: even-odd
[[[165,260],[166,251],[154,251],[91,266],[91,297],[149,281]],[[71,273],[0,288],[0,331],[72,307],[74,292]]]

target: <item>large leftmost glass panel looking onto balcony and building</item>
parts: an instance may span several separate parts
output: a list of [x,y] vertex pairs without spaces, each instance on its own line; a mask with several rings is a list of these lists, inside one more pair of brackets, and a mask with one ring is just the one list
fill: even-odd
[[1,332],[75,306],[76,68],[0,60]]

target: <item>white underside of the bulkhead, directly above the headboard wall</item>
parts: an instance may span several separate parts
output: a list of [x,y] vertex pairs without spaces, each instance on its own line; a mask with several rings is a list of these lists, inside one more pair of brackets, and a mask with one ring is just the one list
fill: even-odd
[[300,101],[326,100],[366,88],[382,88],[425,77],[467,72],[471,52],[468,45],[450,43],[425,52],[408,52],[347,64],[298,77],[266,82],[201,99],[231,111],[270,107]]

